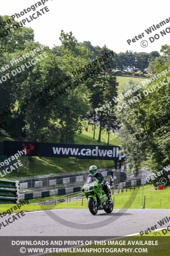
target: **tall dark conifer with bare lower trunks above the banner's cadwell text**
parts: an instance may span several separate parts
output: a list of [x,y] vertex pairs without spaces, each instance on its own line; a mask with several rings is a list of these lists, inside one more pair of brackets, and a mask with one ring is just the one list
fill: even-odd
[[[107,49],[107,47],[104,46],[100,50],[100,55],[98,55],[98,58],[100,56],[103,56],[107,52],[109,52],[109,49]],[[108,108],[104,108],[102,111],[99,110],[97,114],[94,109],[102,107],[105,103],[108,103],[108,101],[110,101],[113,98],[113,96],[116,95],[117,83],[116,77],[114,76],[114,72],[112,71],[115,67],[115,56],[113,58],[111,56],[108,57],[107,63],[105,63],[105,65],[101,63],[97,67],[94,67],[94,69],[97,69],[99,71],[99,74],[92,77],[87,84],[87,87],[92,92],[90,102],[92,104],[93,109],[92,111],[90,111],[88,117],[94,121],[94,134],[96,122],[99,122],[100,124],[98,137],[99,142],[101,142],[101,132],[105,128],[105,125],[107,124],[107,121],[110,119],[110,116],[107,113]]]

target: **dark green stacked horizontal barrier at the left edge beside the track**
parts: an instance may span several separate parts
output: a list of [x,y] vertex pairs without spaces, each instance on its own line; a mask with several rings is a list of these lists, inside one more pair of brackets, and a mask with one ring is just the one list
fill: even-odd
[[18,204],[19,181],[0,180],[0,204]]

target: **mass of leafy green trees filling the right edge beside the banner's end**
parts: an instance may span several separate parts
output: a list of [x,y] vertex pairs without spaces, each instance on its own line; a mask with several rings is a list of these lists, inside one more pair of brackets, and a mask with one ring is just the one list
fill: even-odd
[[[141,166],[158,172],[170,164],[170,47],[164,45],[160,52],[163,56],[151,60],[148,66],[148,72],[155,79],[124,98],[126,107],[116,110],[121,124],[122,149],[127,152],[129,169],[134,175]],[[133,91],[136,85],[131,81],[119,89]],[[118,103],[121,105],[122,101]],[[169,172],[164,175],[167,177]]]

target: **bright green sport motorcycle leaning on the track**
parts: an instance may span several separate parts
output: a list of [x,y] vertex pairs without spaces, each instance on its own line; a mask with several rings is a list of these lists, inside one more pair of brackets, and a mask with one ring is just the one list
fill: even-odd
[[98,210],[104,210],[106,213],[111,213],[113,211],[113,201],[112,203],[107,202],[108,197],[103,191],[102,185],[99,183],[99,180],[95,177],[87,177],[85,185],[83,186],[81,191],[85,194],[88,200],[89,211],[93,215],[96,215]]

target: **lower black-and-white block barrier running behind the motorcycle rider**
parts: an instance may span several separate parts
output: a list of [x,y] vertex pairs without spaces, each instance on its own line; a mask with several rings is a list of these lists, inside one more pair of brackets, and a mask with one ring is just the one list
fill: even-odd
[[[139,179],[139,180],[130,180],[130,181],[122,182],[122,186],[123,186],[123,188],[130,188],[130,187],[142,185],[143,183],[148,184],[148,182],[145,178]],[[48,190],[48,191],[43,191],[43,192],[34,192],[34,193],[30,193],[30,194],[21,194],[19,196],[19,200],[43,198],[43,197],[48,197],[48,196],[66,195],[66,194],[70,194],[70,193],[80,192],[81,189],[82,189],[82,186],[74,187],[74,188],[54,189],[54,190]]]

